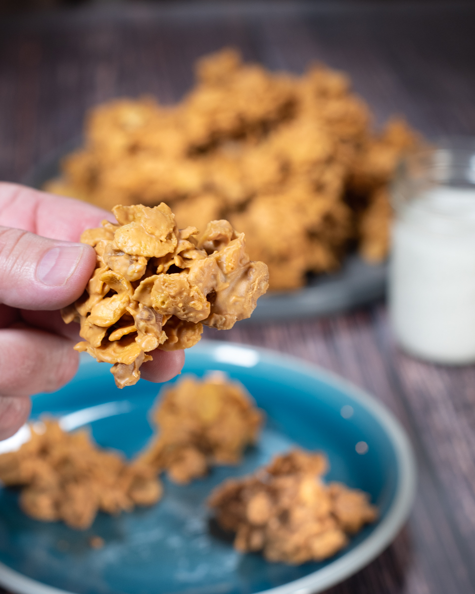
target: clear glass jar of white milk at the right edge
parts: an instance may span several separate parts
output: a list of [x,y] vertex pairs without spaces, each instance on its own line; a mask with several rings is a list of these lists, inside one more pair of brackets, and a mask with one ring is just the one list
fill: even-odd
[[400,165],[389,314],[403,349],[475,362],[475,139],[453,138]]

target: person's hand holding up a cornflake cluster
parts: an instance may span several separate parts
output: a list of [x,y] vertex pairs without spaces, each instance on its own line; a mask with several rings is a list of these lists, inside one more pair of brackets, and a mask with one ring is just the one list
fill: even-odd
[[[79,326],[59,309],[84,292],[96,252],[78,241],[103,219],[114,221],[91,204],[0,182],[0,440],[26,421],[31,394],[77,371]],[[182,350],[150,354],[140,368],[148,381],[169,380],[185,361]]]

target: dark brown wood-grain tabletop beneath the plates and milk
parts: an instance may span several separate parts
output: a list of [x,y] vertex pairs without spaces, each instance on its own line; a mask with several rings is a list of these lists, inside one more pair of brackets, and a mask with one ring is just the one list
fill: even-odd
[[[376,122],[404,113],[430,137],[475,134],[475,5],[446,2],[114,5],[0,23],[0,179],[80,133],[115,96],[179,99],[192,62],[224,45],[270,68],[350,73]],[[332,594],[475,592],[475,366],[394,345],[384,304],[321,320],[237,324],[207,337],[292,353],[375,394],[413,441],[419,491],[394,543]]]

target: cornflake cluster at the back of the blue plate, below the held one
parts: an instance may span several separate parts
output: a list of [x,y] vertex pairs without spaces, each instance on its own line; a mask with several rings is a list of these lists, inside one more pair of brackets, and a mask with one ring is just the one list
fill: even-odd
[[216,372],[167,388],[154,422],[158,436],[138,462],[186,484],[212,465],[238,464],[245,447],[257,441],[262,413],[241,384]]

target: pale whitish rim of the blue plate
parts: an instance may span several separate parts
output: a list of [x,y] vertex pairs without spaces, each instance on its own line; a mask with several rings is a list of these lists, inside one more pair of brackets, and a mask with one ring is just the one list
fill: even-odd
[[[384,428],[394,447],[398,466],[398,485],[391,507],[389,507],[387,515],[381,520],[376,529],[364,541],[351,549],[351,551],[325,567],[314,571],[314,573],[293,582],[255,593],[318,594],[318,592],[322,592],[342,582],[368,565],[397,536],[397,533],[410,514],[416,496],[417,467],[413,447],[403,426],[384,404],[376,400],[374,396],[371,396],[362,388],[355,386],[350,381],[341,378],[327,369],[322,369],[318,365],[299,359],[293,355],[287,355],[263,347],[246,345],[244,343],[227,342],[224,340],[201,340],[193,348],[195,351],[208,351],[207,354],[211,355],[215,360],[222,361],[222,359],[216,358],[216,351],[223,346],[241,349],[244,355],[252,355],[252,352],[258,355],[257,358],[255,357],[255,364],[246,364],[243,366],[254,366],[259,361],[270,359],[273,364],[290,368],[293,372],[298,372],[308,377],[323,380],[327,384],[345,391],[373,415],[376,421]],[[93,361],[90,358],[89,360]],[[229,363],[232,362],[229,361]],[[239,366],[239,364],[237,365]],[[0,584],[15,594],[74,594],[73,592],[37,582],[18,571],[12,570],[4,563],[0,563]]]

